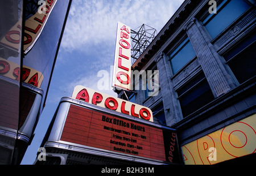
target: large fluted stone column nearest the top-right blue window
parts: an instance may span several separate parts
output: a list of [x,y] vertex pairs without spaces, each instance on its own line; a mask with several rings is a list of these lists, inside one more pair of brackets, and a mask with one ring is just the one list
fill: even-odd
[[220,55],[210,43],[211,38],[205,31],[206,29],[195,18],[185,29],[214,97],[218,97],[234,88],[232,76],[228,74],[224,67],[225,63],[221,61]]

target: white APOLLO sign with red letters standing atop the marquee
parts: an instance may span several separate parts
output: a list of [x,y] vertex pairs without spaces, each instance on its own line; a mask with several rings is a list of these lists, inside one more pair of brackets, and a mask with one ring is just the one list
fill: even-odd
[[152,111],[149,108],[122,100],[121,98],[106,95],[105,93],[96,92],[93,89],[82,87],[81,85],[75,87],[72,98],[89,102],[90,104],[101,106],[102,108],[118,111],[119,113],[142,118],[147,121],[153,121]]

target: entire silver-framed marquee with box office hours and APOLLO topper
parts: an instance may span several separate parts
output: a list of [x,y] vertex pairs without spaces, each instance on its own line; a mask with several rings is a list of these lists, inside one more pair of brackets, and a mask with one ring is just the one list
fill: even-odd
[[147,164],[180,162],[176,130],[152,123],[145,106],[77,85],[72,97],[61,98],[53,118],[46,151],[53,147]]

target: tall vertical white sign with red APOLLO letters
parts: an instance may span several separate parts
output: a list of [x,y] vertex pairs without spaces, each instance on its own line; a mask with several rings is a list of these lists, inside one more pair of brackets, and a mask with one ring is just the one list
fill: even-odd
[[118,22],[113,71],[113,87],[130,90],[131,85],[131,29]]

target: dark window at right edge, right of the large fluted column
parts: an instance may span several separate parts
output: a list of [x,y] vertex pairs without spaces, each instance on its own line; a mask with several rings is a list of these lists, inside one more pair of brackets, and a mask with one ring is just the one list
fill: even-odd
[[256,75],[255,40],[255,33],[248,35],[240,44],[224,54],[226,63],[240,84]]

